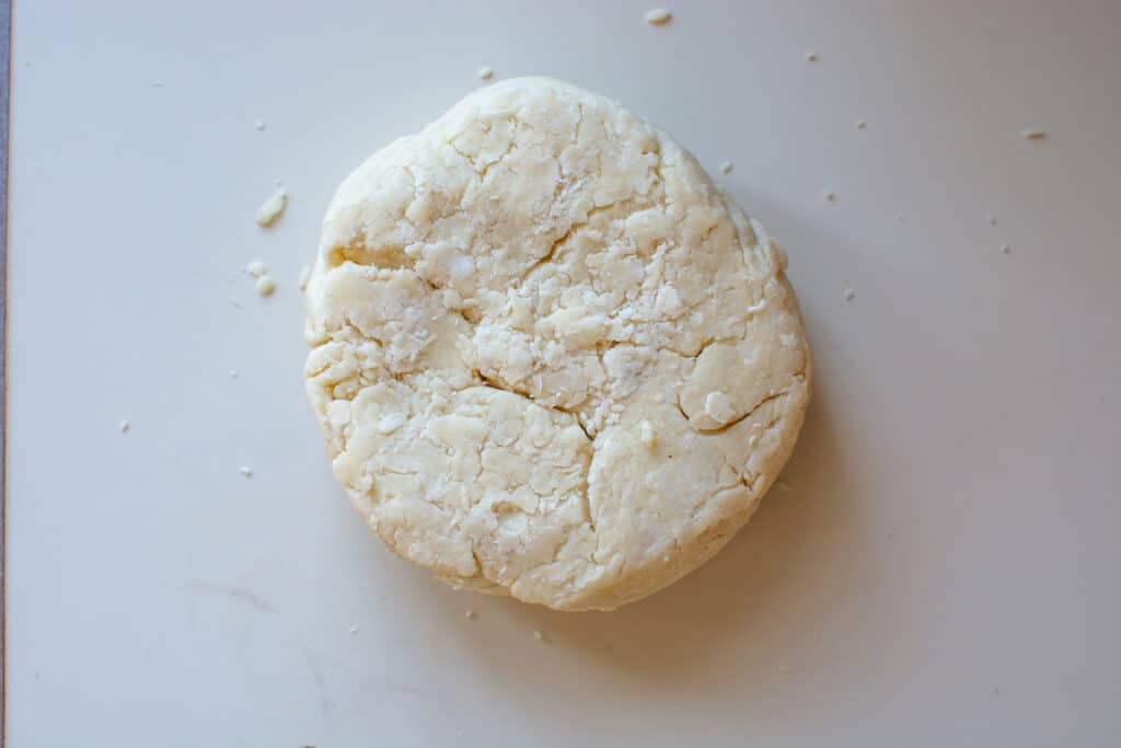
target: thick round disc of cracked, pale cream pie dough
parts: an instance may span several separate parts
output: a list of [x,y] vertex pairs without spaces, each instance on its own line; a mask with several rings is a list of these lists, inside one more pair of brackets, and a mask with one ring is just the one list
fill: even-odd
[[786,256],[668,135],[482,89],[339,187],[307,286],[334,474],[457,588],[611,610],[748,521],[802,426]]

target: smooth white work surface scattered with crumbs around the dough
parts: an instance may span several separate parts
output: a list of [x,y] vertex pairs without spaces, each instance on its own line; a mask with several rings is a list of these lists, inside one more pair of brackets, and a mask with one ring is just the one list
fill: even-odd
[[[1121,3],[651,4],[16,3],[10,746],[1118,745]],[[693,150],[817,357],[790,490],[613,613],[398,561],[304,399],[328,197],[482,65]]]

